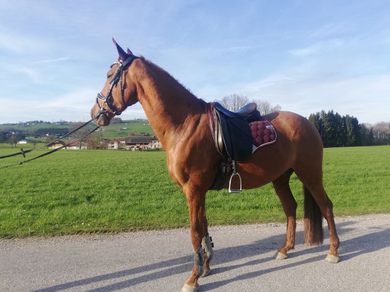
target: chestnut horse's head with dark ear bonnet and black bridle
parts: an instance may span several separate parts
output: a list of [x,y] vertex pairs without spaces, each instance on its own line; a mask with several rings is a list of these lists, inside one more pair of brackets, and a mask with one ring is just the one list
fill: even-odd
[[134,59],[133,53],[127,49],[127,53],[113,42],[118,50],[118,60],[107,72],[107,80],[100,93],[97,94],[96,103],[91,109],[91,116],[95,124],[106,126],[115,115],[119,115],[128,106],[136,103],[136,87],[129,78],[129,66]]

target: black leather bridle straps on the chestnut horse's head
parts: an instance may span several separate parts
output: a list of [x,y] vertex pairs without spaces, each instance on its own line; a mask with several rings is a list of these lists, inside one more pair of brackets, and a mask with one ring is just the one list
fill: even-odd
[[125,98],[123,96],[123,86],[122,86],[122,75],[123,74],[122,73],[123,73],[123,70],[125,70],[131,64],[131,62],[134,59],[137,59],[137,58],[138,57],[136,57],[136,56],[134,56],[132,54],[129,54],[125,60],[123,60],[123,61],[122,60],[117,60],[114,63],[114,64],[119,64],[119,67],[117,69],[117,72],[115,72],[113,79],[111,79],[109,81],[109,83],[111,85],[109,86],[107,95],[104,96],[101,92],[99,92],[97,94],[97,97],[96,97],[96,104],[99,107],[99,115],[100,114],[104,114],[106,116],[106,118],[109,119],[109,117],[107,115],[107,109],[100,106],[99,100],[101,100],[103,103],[105,103],[106,106],[113,112],[114,115],[120,115],[122,113],[122,111],[120,111],[117,108],[115,108],[115,106],[109,101],[109,98],[113,97],[113,95],[112,95],[113,87],[119,81],[120,82],[120,87],[121,87],[121,96],[122,96],[123,105],[126,105],[126,101],[125,101]]

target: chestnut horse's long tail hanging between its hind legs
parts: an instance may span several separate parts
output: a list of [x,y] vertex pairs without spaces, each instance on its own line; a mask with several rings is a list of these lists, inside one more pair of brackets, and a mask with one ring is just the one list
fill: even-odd
[[304,193],[304,243],[321,245],[324,240],[320,207],[310,191],[303,186]]

